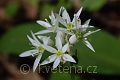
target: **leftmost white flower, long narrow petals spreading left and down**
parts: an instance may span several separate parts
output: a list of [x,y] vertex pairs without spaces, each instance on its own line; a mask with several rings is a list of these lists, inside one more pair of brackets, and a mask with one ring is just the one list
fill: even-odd
[[[31,32],[32,33],[32,32]],[[43,44],[41,44],[38,39],[36,38],[36,36],[32,33],[32,37],[29,37],[27,36],[29,41],[32,43],[32,45],[34,46],[34,49],[33,50],[28,50],[28,51],[25,51],[23,52],[22,54],[20,54],[19,56],[20,57],[28,57],[28,56],[35,56],[37,55],[37,58],[35,59],[35,62],[34,62],[34,65],[33,65],[33,71],[35,71],[35,69],[37,68],[40,60],[41,60],[41,57],[45,51],[44,49],[44,45],[48,45],[48,42],[49,42],[49,37],[45,37],[45,36],[38,36],[38,38],[40,38],[40,40],[43,41]]]

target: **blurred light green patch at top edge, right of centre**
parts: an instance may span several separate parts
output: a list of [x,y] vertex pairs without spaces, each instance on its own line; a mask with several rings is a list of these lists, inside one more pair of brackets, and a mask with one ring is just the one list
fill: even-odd
[[82,6],[89,11],[98,11],[101,9],[107,0],[81,0]]

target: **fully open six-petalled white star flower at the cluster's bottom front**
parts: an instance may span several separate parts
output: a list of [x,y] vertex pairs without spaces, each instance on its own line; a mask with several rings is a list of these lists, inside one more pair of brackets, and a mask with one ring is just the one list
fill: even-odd
[[76,61],[69,54],[66,54],[66,51],[69,47],[69,44],[67,43],[62,47],[62,42],[61,42],[59,32],[57,33],[55,39],[56,39],[57,49],[55,49],[51,46],[44,46],[44,48],[48,52],[53,53],[53,55],[49,56],[45,61],[43,61],[41,63],[41,65],[45,65],[45,64],[49,64],[51,62],[54,62],[54,64],[53,64],[53,69],[54,69],[59,65],[60,62],[69,61],[69,62],[76,63]]

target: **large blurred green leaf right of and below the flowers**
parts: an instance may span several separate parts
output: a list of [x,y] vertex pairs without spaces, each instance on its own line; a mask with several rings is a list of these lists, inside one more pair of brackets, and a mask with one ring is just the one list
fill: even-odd
[[[98,74],[120,74],[120,40],[106,32],[97,32],[89,37],[95,53],[80,43],[76,46],[79,63],[87,71],[89,66],[97,66]],[[94,71],[94,67],[91,68]]]

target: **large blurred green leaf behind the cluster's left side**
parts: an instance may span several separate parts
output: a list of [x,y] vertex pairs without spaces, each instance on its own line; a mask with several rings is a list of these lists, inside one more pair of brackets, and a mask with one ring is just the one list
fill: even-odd
[[27,35],[31,35],[31,30],[36,32],[41,28],[42,27],[37,23],[26,23],[15,26],[0,39],[0,51],[20,54],[21,52],[30,49],[30,42],[27,39]]

